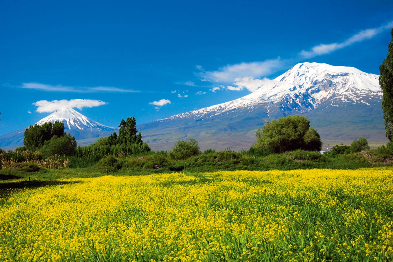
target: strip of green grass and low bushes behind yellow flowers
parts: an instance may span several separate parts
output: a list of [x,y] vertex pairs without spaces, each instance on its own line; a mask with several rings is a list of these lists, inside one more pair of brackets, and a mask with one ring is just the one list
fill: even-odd
[[[375,151],[375,152],[374,152]],[[255,153],[255,152],[254,152]],[[220,170],[293,170],[293,169],[359,169],[390,165],[391,158],[383,150],[371,150],[369,156],[360,153],[330,156],[303,150],[255,156],[246,151],[212,151],[190,157],[186,160],[173,160],[166,152],[149,152],[141,156],[107,156],[97,161],[89,158],[70,158],[70,168],[63,170],[34,167],[18,163],[9,169],[0,170],[0,178],[11,176],[31,179],[53,180],[60,178],[87,178],[107,175],[135,176],[164,174],[171,172],[215,172]],[[372,157],[370,157],[372,156]],[[108,172],[107,172],[108,170]]]

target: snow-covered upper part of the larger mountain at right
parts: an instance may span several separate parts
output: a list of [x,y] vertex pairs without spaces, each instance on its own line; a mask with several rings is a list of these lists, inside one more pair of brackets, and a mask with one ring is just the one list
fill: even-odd
[[279,77],[264,82],[257,91],[239,99],[157,121],[213,117],[260,105],[266,108],[270,118],[277,109],[283,112],[283,115],[304,114],[318,108],[327,100],[331,100],[332,106],[339,106],[341,103],[364,103],[370,106],[370,100],[382,99],[378,75],[348,66],[299,63]]

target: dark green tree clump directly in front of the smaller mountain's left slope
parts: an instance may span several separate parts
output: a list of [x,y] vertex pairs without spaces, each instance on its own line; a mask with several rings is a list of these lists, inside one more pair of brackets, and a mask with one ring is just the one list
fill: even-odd
[[64,123],[56,121],[55,123],[44,123],[42,126],[35,124],[29,126],[24,132],[23,145],[27,150],[39,150],[45,141],[50,140],[53,136],[64,136]]

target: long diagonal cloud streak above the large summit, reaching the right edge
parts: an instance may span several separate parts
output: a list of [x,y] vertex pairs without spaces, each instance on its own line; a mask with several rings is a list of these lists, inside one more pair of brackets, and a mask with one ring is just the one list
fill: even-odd
[[329,53],[336,51],[338,49],[342,49],[347,46],[350,46],[356,42],[362,42],[363,40],[373,38],[375,35],[378,35],[379,33],[381,33],[382,31],[384,31],[386,29],[390,29],[392,26],[393,26],[393,21],[386,24],[385,26],[371,28],[371,29],[365,29],[365,30],[360,31],[359,33],[353,35],[352,37],[348,38],[344,42],[332,43],[332,44],[320,44],[318,46],[312,47],[310,49],[310,51],[302,50],[300,52],[300,56],[303,58],[312,58],[312,57],[316,57],[318,55],[329,54]]

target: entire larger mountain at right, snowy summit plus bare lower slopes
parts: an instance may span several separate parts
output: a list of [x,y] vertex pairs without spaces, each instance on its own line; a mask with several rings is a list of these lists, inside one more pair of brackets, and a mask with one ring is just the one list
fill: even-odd
[[170,149],[193,137],[201,147],[250,147],[265,119],[306,114],[325,143],[363,136],[384,142],[382,91],[378,75],[353,67],[299,63],[273,80],[260,80],[253,93],[140,125],[153,150]]

